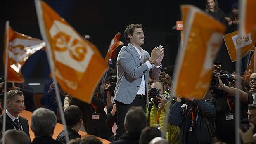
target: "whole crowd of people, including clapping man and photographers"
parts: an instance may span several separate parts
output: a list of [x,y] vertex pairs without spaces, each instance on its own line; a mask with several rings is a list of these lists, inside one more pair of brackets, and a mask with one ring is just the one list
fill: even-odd
[[[237,30],[237,3],[232,5],[230,14],[224,14],[217,0],[206,0],[206,13],[227,24],[229,32]],[[7,131],[3,137],[1,132],[1,142],[102,144],[97,139],[100,137],[111,144],[235,144],[235,97],[239,96],[241,142],[256,143],[253,136],[256,133],[256,73],[244,80],[240,71],[230,74],[218,69],[213,71],[218,85],[210,87],[201,96],[203,99],[175,96],[171,94],[174,66],[161,64],[164,47],[154,47],[151,54],[143,50],[144,32],[140,24],[127,26],[124,35],[128,45],[118,54],[117,76],[105,81],[103,89],[96,88],[90,104],[73,98],[50,80],[44,85],[42,108],[36,109],[29,85],[9,85],[5,111]],[[218,59],[220,57],[216,61]],[[242,61],[247,59],[248,56]],[[67,133],[63,130],[53,139],[55,125],[61,123],[56,87],[59,87]],[[31,125],[19,116],[24,109],[33,112]],[[3,115],[0,126],[2,121]],[[81,138],[78,133],[81,126],[90,136]],[[35,135],[32,141],[30,128]]]

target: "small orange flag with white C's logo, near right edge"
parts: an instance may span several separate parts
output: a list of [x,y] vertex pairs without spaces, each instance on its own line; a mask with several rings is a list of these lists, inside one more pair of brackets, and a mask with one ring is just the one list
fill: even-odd
[[238,31],[223,36],[228,54],[233,62],[244,57],[250,50],[254,50],[255,33],[256,31],[254,29],[246,36],[239,35]]

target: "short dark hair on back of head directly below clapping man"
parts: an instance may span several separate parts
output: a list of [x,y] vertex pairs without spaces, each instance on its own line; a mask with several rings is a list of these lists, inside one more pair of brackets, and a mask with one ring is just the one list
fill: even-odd
[[141,132],[146,127],[146,123],[146,113],[141,106],[132,106],[128,109],[124,118],[124,125],[128,132]]

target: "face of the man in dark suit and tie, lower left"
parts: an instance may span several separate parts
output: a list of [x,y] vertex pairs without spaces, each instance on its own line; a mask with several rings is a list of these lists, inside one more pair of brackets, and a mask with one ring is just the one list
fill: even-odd
[[11,114],[22,113],[24,106],[24,97],[23,95],[16,95],[10,101],[7,101],[7,111]]

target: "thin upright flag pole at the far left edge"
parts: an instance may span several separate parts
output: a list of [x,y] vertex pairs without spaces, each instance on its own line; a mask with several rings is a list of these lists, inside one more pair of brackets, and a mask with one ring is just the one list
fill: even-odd
[[[6,129],[6,93],[7,93],[7,68],[8,68],[8,47],[9,47],[9,21],[5,23],[5,31],[6,31],[6,45],[5,45],[5,84],[4,84],[4,115],[3,115],[3,124],[2,124],[2,137],[5,136]],[[3,139],[3,144],[5,144],[5,140]]]

